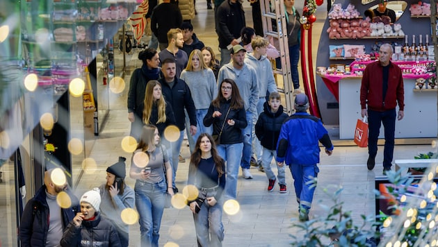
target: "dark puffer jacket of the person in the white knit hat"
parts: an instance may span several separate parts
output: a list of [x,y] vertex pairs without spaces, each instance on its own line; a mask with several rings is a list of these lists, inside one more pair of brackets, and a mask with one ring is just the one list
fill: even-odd
[[73,221],[70,222],[64,231],[61,246],[121,246],[117,230],[100,213],[96,213],[96,218],[92,221],[82,221],[82,225],[77,228]]

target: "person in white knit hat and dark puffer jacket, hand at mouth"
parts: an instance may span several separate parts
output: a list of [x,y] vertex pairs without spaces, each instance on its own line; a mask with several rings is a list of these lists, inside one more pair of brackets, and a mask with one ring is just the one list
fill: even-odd
[[121,246],[117,230],[99,212],[99,189],[87,191],[80,202],[81,212],[67,225],[60,246]]

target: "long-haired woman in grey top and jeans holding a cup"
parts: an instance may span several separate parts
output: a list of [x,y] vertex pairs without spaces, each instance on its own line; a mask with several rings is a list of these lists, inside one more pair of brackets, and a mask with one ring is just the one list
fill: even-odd
[[158,128],[151,124],[143,126],[129,170],[129,176],[136,180],[134,191],[140,214],[140,242],[141,246],[148,247],[159,244],[166,193],[173,196],[172,167],[165,146],[159,142]]

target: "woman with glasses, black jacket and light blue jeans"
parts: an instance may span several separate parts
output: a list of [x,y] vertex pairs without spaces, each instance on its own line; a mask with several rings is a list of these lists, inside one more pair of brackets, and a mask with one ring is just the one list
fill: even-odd
[[220,93],[211,102],[204,117],[204,125],[213,124],[218,153],[227,161],[227,184],[225,198],[237,196],[238,167],[243,150],[243,130],[248,126],[244,101],[234,80],[225,79],[219,84]]

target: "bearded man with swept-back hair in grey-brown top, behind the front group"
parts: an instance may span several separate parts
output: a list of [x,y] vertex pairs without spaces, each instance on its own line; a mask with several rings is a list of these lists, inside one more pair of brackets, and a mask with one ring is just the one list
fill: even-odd
[[168,41],[168,47],[159,53],[160,62],[163,64],[166,58],[175,60],[175,65],[177,65],[177,74],[175,76],[179,78],[183,69],[186,69],[188,62],[186,51],[181,50],[184,45],[183,31],[179,28],[170,29],[168,31]]

